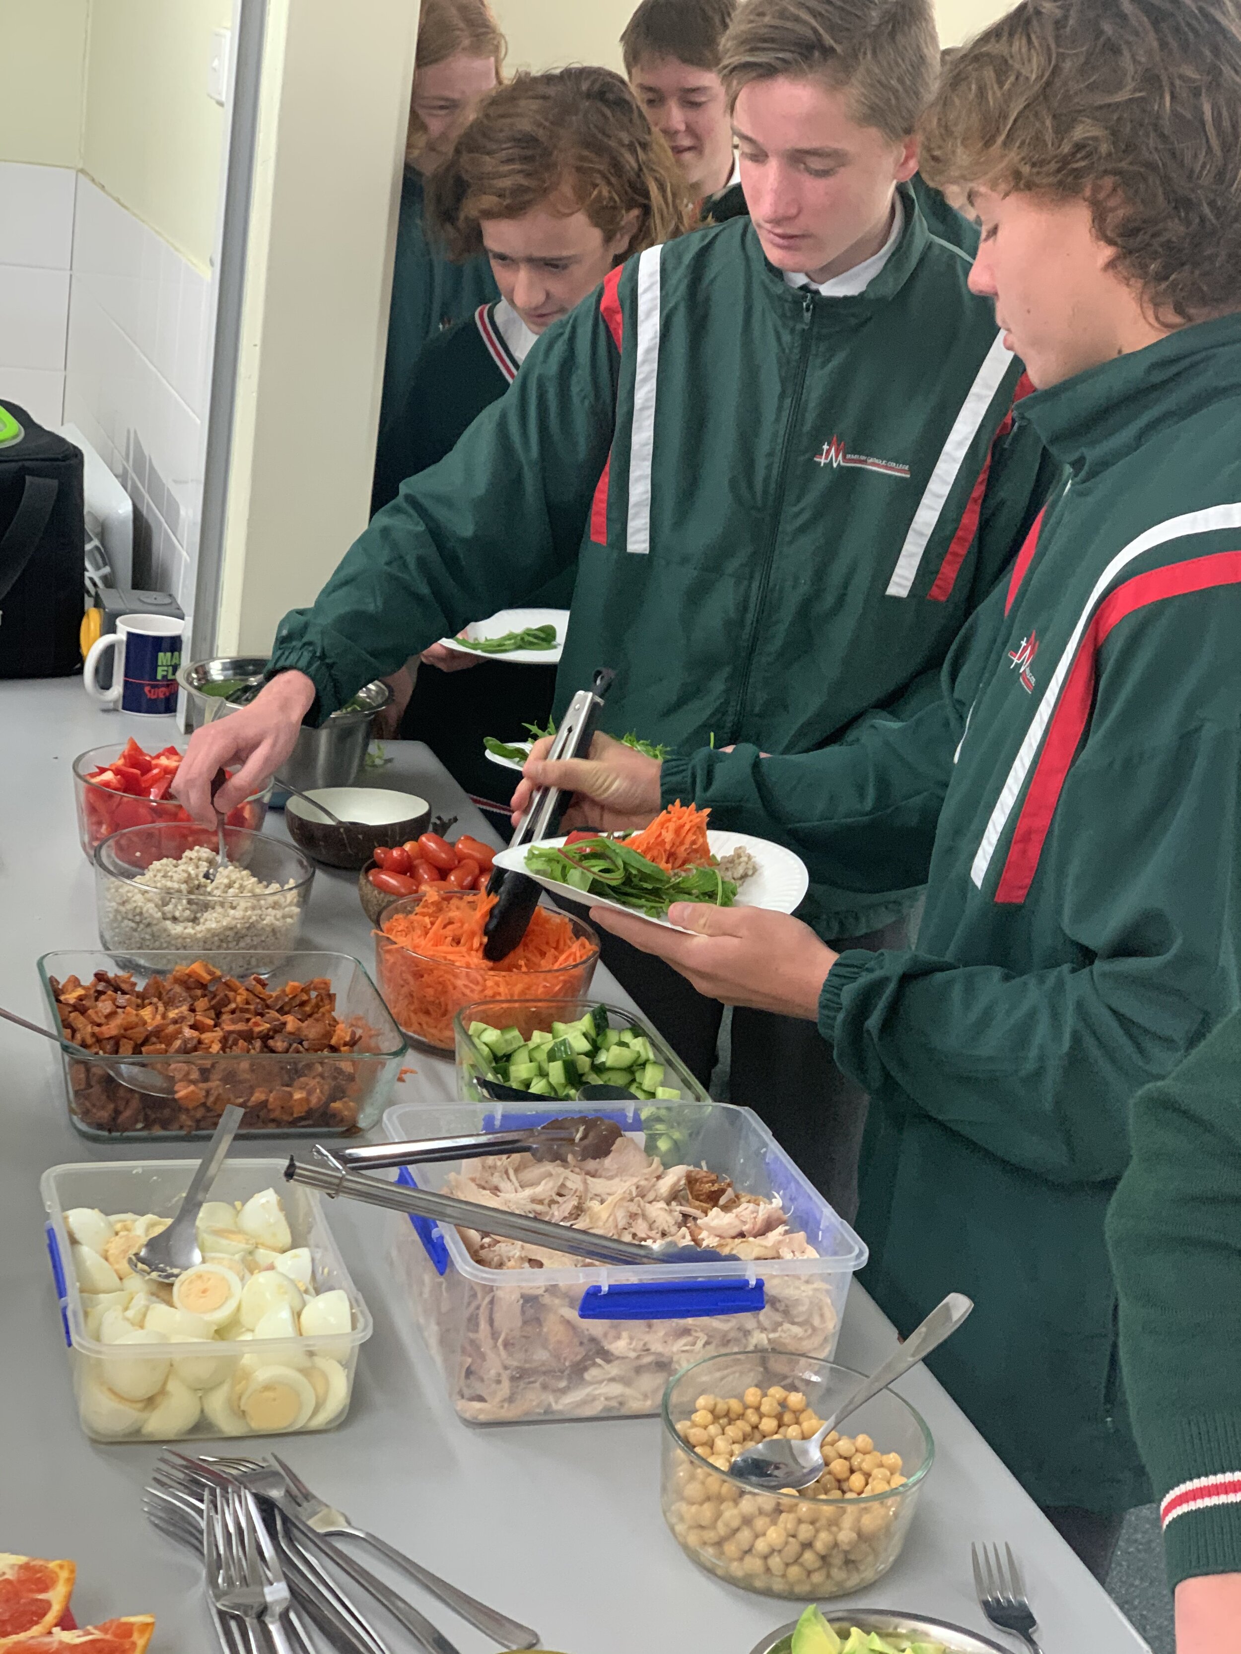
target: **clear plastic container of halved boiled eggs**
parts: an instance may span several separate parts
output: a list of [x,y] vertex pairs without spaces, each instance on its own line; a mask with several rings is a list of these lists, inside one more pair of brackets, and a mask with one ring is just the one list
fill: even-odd
[[[333,1429],[371,1313],[319,1196],[283,1159],[227,1161],[172,1288],[126,1252],[170,1219],[195,1159],[53,1166],[40,1189],[83,1431],[99,1442]],[[232,1214],[232,1216],[230,1216]],[[117,1226],[116,1219],[122,1217]]]

